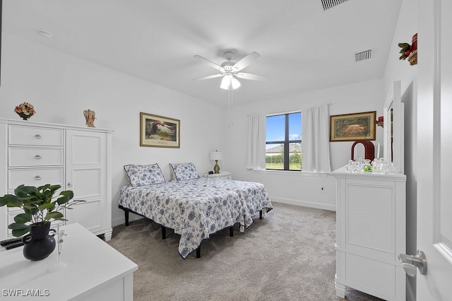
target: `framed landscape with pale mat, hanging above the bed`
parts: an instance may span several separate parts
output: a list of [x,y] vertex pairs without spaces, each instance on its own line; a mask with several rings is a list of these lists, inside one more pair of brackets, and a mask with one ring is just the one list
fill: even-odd
[[140,146],[180,148],[178,119],[140,113]]

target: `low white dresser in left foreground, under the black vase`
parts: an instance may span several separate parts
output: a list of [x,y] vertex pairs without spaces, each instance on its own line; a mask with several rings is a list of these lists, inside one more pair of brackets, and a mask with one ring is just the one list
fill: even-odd
[[0,249],[1,300],[133,300],[133,271],[138,266],[78,223],[65,225],[60,261],[57,249],[30,261],[23,247]]

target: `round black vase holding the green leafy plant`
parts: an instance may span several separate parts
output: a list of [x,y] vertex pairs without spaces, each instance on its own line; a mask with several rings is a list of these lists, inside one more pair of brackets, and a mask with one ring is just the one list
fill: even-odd
[[[52,235],[49,232],[53,232]],[[26,259],[36,261],[42,260],[52,254],[55,249],[54,235],[57,231],[50,229],[50,223],[34,225],[30,233],[22,238],[23,256]]]

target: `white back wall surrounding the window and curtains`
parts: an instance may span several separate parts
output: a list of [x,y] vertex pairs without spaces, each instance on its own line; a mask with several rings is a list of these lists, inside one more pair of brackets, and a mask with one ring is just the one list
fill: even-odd
[[[366,63],[364,63],[366,64]],[[238,93],[238,92],[237,92]],[[271,102],[259,102],[234,108],[233,126],[227,131],[228,153],[246,153],[247,115],[277,112],[293,112],[302,107],[330,105],[330,114],[347,114],[354,112],[377,111],[376,116],[383,114],[383,81],[366,81],[352,85],[343,85],[290,98],[275,99]],[[264,125],[262,130],[265,131]],[[375,146],[383,143],[383,129],[376,128]],[[350,142],[331,142],[331,168],[336,170],[350,160]],[[358,150],[357,150],[358,151]],[[375,148],[376,151],[376,148]],[[382,150],[381,150],[382,151]],[[362,155],[364,157],[364,155]],[[335,179],[331,175],[303,174],[283,171],[249,171],[245,169],[245,156],[225,158],[222,163],[234,173],[235,179],[262,182],[266,185],[272,201],[293,203],[314,208],[335,211]],[[323,192],[321,188],[323,187]]]

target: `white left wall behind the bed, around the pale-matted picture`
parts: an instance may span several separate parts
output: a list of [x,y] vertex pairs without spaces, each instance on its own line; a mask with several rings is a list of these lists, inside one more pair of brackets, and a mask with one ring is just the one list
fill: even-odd
[[[169,163],[193,162],[201,174],[212,170],[210,151],[225,146],[220,107],[13,35],[2,39],[0,117],[18,119],[14,107],[31,102],[33,121],[85,126],[83,110],[89,108],[97,128],[114,129],[113,225],[124,223],[118,208],[124,165],[158,163],[165,179]],[[140,112],[180,119],[181,148],[140,147]]]

